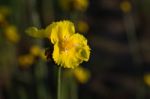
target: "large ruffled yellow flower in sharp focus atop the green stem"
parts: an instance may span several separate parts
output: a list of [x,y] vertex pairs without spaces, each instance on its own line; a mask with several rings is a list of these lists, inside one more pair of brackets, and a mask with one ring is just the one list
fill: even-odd
[[[28,31],[29,34],[32,32]],[[38,33],[38,30],[36,32]],[[87,39],[83,35],[75,33],[72,22],[67,20],[54,22],[46,27],[43,34],[46,34],[54,44],[52,57],[57,65],[74,68],[83,61],[89,60],[90,48],[87,45]]]

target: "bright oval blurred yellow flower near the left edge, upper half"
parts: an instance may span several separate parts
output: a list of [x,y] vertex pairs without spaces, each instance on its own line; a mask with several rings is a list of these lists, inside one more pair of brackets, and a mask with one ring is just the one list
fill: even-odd
[[6,38],[12,43],[18,43],[20,36],[15,26],[7,26],[4,30]]

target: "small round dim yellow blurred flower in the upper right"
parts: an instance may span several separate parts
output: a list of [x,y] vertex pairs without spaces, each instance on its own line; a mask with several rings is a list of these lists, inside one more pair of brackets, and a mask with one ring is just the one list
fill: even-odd
[[129,1],[123,1],[121,4],[120,4],[120,8],[121,10],[124,12],[124,13],[128,13],[131,11],[131,4]]

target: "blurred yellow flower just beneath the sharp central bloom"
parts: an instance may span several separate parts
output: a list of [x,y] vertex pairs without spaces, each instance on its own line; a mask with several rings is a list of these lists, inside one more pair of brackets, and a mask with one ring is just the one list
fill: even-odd
[[73,74],[80,83],[86,83],[90,78],[90,72],[81,66],[75,68]]

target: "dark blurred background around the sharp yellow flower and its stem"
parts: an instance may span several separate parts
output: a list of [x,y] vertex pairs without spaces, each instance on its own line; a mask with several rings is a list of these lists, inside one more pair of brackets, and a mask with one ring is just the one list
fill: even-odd
[[80,71],[64,69],[62,99],[150,99],[149,10],[149,0],[0,0],[0,99],[56,99],[52,46],[25,30],[60,20],[91,47]]

